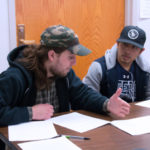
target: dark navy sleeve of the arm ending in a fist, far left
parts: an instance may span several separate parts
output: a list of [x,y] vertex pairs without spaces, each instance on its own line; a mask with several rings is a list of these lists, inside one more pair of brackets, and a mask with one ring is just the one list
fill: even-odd
[[29,121],[27,107],[22,102],[25,84],[23,75],[16,69],[0,75],[0,126]]

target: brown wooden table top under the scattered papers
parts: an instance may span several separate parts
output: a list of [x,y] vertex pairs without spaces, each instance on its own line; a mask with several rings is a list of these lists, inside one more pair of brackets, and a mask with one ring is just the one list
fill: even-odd
[[[78,111],[85,115],[105,119],[105,120],[113,120],[109,116],[104,116],[100,114],[95,114],[87,111]],[[64,113],[60,113],[57,115],[62,115]],[[125,119],[140,117],[150,115],[150,108],[140,107],[134,104],[131,104],[131,112],[130,115]],[[83,150],[149,150],[150,149],[150,134],[143,134],[138,136],[129,135],[114,126],[107,124],[105,126],[90,130],[84,133],[78,133],[67,128],[63,128],[61,126],[55,125],[58,134],[71,134],[71,135],[79,135],[91,138],[90,140],[71,140],[73,143],[78,145]],[[0,128],[0,138],[5,141],[6,144],[9,144],[16,147],[17,150],[21,150],[17,143],[19,142],[11,142],[8,143],[8,128]],[[12,144],[12,145],[11,145]],[[14,148],[13,147],[13,148]],[[12,150],[16,150],[15,148]]]

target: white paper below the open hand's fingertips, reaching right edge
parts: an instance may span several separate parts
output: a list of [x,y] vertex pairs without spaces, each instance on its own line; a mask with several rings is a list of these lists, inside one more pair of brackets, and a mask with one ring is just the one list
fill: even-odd
[[116,120],[112,121],[111,124],[131,135],[150,133],[150,116]]

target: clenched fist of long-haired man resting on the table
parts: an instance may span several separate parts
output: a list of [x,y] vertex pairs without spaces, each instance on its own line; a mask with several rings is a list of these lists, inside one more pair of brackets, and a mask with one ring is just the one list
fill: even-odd
[[54,109],[50,104],[37,104],[32,107],[32,120],[46,120],[53,116]]

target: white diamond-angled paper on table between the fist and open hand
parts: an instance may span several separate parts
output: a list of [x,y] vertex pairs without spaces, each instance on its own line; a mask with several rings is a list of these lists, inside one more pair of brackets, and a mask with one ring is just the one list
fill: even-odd
[[61,115],[50,119],[53,123],[77,132],[86,132],[88,130],[103,126],[109,121],[97,119],[77,112]]

